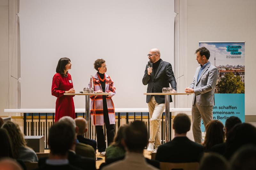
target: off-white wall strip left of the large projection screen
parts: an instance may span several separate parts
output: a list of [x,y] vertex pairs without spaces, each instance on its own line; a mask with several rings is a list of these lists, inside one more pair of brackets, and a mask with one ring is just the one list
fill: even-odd
[[[18,108],[18,0],[0,0],[0,116],[5,108]],[[15,26],[16,24],[16,26]],[[8,93],[9,91],[9,93]]]

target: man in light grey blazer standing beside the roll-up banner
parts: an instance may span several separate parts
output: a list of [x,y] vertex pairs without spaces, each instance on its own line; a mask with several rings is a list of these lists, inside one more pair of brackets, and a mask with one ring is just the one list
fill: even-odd
[[200,66],[197,67],[193,82],[185,89],[185,92],[194,93],[192,130],[195,142],[202,143],[201,120],[203,119],[205,127],[213,118],[214,89],[218,78],[218,69],[209,62],[210,52],[207,48],[198,48],[195,54]]

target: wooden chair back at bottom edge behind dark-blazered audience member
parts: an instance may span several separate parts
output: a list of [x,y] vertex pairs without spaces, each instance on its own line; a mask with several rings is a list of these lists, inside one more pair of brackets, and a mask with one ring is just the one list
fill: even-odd
[[189,162],[189,163],[170,163],[170,162],[160,162],[161,170],[198,170],[198,162]]

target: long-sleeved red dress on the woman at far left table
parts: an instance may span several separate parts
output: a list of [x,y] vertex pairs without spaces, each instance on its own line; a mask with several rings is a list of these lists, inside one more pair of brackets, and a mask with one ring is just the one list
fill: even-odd
[[74,95],[63,95],[65,91],[73,88],[73,82],[70,74],[68,77],[56,73],[52,78],[52,95],[57,97],[55,107],[55,122],[63,116],[70,116],[75,119]]

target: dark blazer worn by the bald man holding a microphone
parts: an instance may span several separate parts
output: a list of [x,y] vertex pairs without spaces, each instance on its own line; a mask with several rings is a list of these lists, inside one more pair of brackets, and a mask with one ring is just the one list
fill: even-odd
[[[176,80],[172,71],[172,65],[168,62],[161,61],[158,69],[148,75],[148,64],[146,65],[145,74],[142,78],[143,85],[148,85],[147,93],[152,93],[154,89],[154,93],[161,93],[163,87],[170,87],[176,90]],[[158,104],[164,103],[164,95],[154,95],[155,100]],[[151,95],[147,95],[147,103],[150,100]],[[170,102],[172,102],[172,96],[170,95]]]

